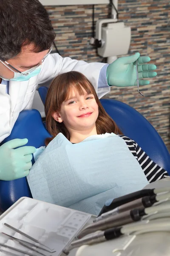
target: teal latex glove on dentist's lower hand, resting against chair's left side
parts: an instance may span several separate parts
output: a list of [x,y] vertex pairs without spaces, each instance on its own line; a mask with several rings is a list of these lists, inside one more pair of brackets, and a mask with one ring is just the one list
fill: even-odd
[[0,146],[0,180],[15,180],[28,175],[32,166],[32,154],[36,148],[21,147],[26,143],[27,139],[14,139]]

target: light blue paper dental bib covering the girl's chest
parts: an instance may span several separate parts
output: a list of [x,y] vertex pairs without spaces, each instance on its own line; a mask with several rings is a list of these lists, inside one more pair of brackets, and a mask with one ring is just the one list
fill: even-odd
[[113,133],[103,135],[72,144],[58,134],[27,176],[33,198],[97,215],[109,198],[146,186],[125,141]]

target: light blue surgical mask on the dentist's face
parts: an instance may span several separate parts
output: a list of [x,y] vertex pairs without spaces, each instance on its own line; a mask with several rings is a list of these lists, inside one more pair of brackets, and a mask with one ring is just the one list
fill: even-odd
[[[33,76],[37,76],[41,71],[41,66],[37,67],[34,71],[31,72],[31,69],[29,70],[26,70],[22,73],[17,73],[17,72],[14,72],[14,77],[11,78],[11,79],[6,79],[6,78],[3,78],[2,76],[0,76],[0,78],[2,78],[3,80],[6,80],[6,81],[27,81],[29,80],[31,77]],[[27,74],[27,76],[23,75],[23,74]]]

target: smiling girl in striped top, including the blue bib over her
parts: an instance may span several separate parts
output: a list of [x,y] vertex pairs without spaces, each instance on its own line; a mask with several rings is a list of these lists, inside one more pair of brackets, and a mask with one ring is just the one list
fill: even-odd
[[45,113],[52,137],[27,176],[33,198],[97,215],[109,198],[168,176],[121,134],[81,73],[53,80]]

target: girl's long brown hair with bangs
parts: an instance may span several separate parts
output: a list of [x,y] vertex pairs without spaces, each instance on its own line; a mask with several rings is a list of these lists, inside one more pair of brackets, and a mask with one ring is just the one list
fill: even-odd
[[74,88],[76,88],[79,95],[83,95],[84,90],[87,94],[94,94],[94,98],[99,106],[99,116],[96,120],[97,134],[105,134],[106,132],[122,134],[116,123],[102,107],[91,82],[82,73],[70,71],[58,75],[48,89],[45,100],[46,128],[52,137],[45,140],[45,145],[48,145],[60,132],[70,140],[70,134],[65,124],[57,122],[52,115],[54,112],[60,111],[62,102],[68,100]]

